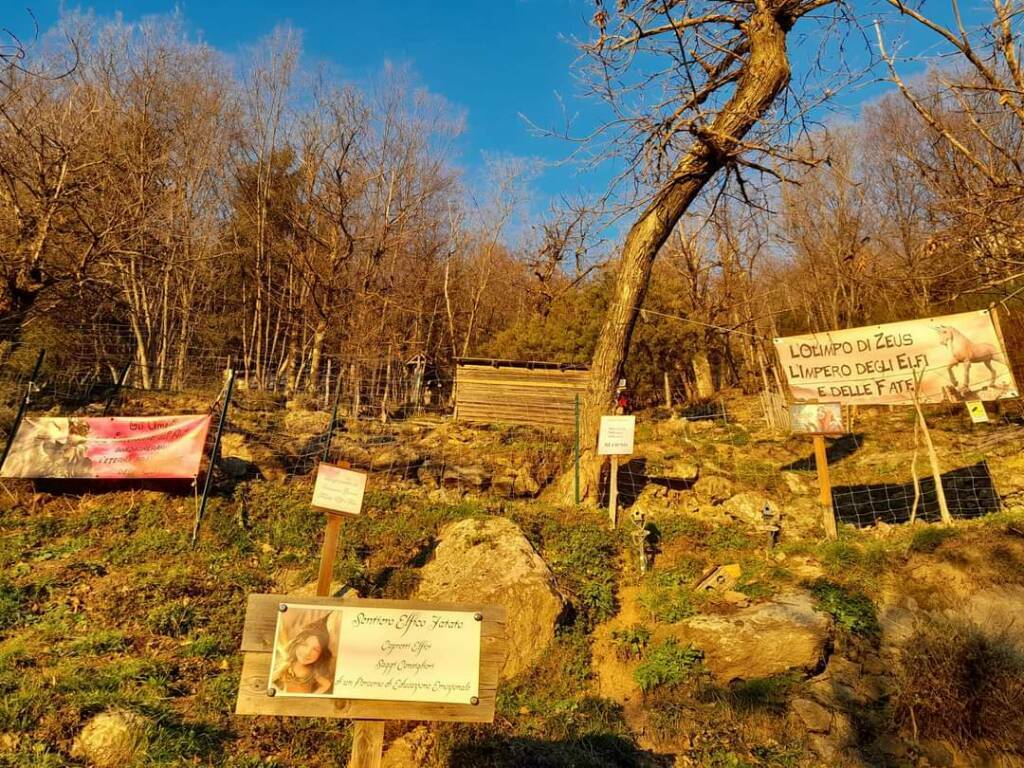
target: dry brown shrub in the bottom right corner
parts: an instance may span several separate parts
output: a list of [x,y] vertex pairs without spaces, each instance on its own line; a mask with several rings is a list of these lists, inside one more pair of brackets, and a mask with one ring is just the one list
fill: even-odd
[[1024,753],[1024,653],[975,625],[931,621],[900,658],[893,712],[918,737]]

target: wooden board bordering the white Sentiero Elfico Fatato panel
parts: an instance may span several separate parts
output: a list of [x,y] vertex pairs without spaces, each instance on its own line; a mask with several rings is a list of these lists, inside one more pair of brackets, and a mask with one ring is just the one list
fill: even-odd
[[[271,696],[268,683],[281,603],[325,607],[452,610],[480,613],[480,673],[478,702],[441,703],[321,696]],[[487,603],[446,603],[429,600],[362,600],[307,595],[251,594],[242,632],[242,677],[236,715],[324,717],[353,720],[436,720],[490,723],[495,719],[498,679],[508,652],[506,611]]]

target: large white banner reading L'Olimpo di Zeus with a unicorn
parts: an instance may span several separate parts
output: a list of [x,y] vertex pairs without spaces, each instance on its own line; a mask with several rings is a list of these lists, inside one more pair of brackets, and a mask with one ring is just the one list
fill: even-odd
[[775,339],[797,402],[912,403],[1017,397],[987,309]]

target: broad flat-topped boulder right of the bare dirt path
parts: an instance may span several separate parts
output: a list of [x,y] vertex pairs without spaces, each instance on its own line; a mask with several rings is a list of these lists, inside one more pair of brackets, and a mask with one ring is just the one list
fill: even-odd
[[669,633],[700,648],[712,674],[728,682],[813,672],[825,655],[829,628],[809,594],[790,592],[728,616],[694,616]]

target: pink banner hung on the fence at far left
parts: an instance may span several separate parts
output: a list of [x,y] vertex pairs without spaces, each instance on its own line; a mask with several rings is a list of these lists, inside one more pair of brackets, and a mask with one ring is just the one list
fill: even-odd
[[191,478],[209,429],[209,416],[27,418],[0,476]]

